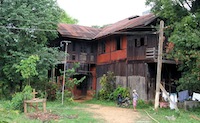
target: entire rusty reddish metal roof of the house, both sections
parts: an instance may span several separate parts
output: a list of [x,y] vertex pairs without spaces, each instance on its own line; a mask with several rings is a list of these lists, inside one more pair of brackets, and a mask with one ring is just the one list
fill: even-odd
[[133,16],[104,27],[103,29],[61,23],[58,25],[58,32],[63,37],[92,40],[111,35],[115,32],[146,26],[156,18],[154,14]]

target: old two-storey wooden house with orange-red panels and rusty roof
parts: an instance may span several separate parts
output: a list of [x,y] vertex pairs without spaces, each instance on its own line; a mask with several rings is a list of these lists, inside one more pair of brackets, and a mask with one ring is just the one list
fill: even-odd
[[[80,62],[80,76],[85,82],[76,88],[77,94],[87,94],[101,89],[100,78],[108,71],[114,72],[116,84],[136,89],[140,99],[152,100],[155,95],[159,19],[148,14],[133,16],[103,29],[60,24],[58,46],[70,40],[67,63]],[[167,38],[164,44],[167,43]],[[164,45],[164,50],[165,50]],[[174,60],[163,57],[162,83],[168,92],[174,92],[174,83],[180,77]],[[78,91],[79,90],[79,91]]]

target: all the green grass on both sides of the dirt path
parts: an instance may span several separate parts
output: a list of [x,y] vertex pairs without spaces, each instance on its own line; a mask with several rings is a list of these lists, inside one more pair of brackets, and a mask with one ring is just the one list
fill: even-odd
[[[4,104],[6,101],[0,101],[0,123],[42,123],[41,120],[29,119],[24,113],[19,111],[10,111],[4,109]],[[104,106],[116,106],[115,102],[110,101],[100,101],[100,100],[89,100],[84,103],[64,103],[61,105],[61,102],[47,102],[47,110],[53,114],[58,114],[61,116],[59,120],[48,121],[48,123],[103,123],[103,119],[95,119],[93,114],[84,111],[86,104],[99,104]],[[132,106],[130,107],[132,108]],[[144,121],[145,118],[149,117],[147,113],[156,119],[160,123],[199,123],[200,120],[200,108],[190,111],[184,111],[180,109],[179,112],[174,110],[160,108],[158,111],[153,110],[153,105],[147,105],[143,101],[138,102],[137,107],[141,118],[140,121]],[[147,112],[147,113],[146,113]],[[70,118],[72,116],[72,118]],[[73,116],[76,116],[73,118]],[[166,117],[175,117],[175,120],[168,120]],[[195,119],[196,118],[196,119]],[[152,120],[152,122],[154,122]]]

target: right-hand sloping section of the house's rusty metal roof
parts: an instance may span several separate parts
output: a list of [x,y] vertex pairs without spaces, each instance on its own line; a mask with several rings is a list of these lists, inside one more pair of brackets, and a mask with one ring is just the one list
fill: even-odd
[[95,38],[100,38],[106,35],[110,35],[114,32],[146,26],[155,19],[156,16],[154,14],[129,17],[103,28],[103,30],[98,35],[96,35]]

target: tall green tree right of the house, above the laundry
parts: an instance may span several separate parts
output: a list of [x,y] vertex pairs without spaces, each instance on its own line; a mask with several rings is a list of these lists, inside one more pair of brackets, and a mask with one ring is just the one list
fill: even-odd
[[165,32],[175,47],[169,56],[181,62],[178,89],[200,92],[200,1],[147,0],[146,4],[170,27]]

